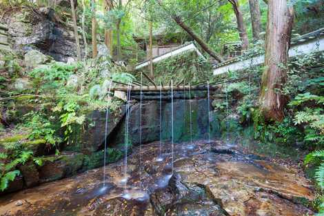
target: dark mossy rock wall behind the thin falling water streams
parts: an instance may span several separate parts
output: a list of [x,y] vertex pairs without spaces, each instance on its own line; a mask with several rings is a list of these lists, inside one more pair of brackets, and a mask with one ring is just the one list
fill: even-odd
[[[208,139],[208,130],[211,137],[219,135],[219,121],[210,113],[210,129],[208,128],[208,106],[207,99],[196,100],[174,100],[174,141],[190,140],[190,103],[192,109],[192,139]],[[162,101],[162,140],[171,139],[171,101]],[[212,108],[210,108],[212,110]],[[139,145],[140,138],[140,106],[134,104],[130,108],[130,119],[128,123],[129,140],[133,145]],[[116,128],[118,131],[109,137],[110,144],[125,143],[125,118],[123,122]],[[159,101],[143,101],[142,104],[142,144],[157,141],[160,139],[160,102]]]

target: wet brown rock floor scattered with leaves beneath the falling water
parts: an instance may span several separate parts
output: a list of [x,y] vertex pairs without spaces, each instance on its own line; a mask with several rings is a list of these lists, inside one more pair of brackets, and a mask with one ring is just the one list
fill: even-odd
[[123,161],[105,167],[105,184],[98,168],[1,196],[0,215],[313,214],[301,173],[220,141],[188,146],[174,144],[173,163],[170,143],[161,155],[159,142],[134,148],[127,169]]

